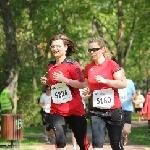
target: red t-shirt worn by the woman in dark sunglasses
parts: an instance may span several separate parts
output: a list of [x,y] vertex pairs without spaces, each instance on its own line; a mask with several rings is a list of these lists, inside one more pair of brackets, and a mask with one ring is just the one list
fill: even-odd
[[85,78],[88,79],[88,84],[92,91],[100,89],[112,88],[114,90],[114,106],[111,109],[121,107],[118,89],[110,87],[107,84],[98,83],[94,77],[101,75],[104,79],[114,80],[113,74],[120,70],[120,66],[113,60],[105,60],[102,64],[96,65],[94,62],[85,66]]

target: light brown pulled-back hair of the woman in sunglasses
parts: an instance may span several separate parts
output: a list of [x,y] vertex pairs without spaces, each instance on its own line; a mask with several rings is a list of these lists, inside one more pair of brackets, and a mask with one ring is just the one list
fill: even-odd
[[90,43],[98,43],[100,48],[105,48],[105,52],[104,52],[104,57],[107,59],[111,59],[112,58],[112,53],[108,50],[106,43],[104,42],[102,37],[92,37],[89,41],[88,44]]

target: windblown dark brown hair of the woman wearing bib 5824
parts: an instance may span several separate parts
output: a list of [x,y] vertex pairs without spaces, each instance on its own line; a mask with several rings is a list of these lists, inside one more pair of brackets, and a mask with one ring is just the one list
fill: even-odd
[[77,47],[75,46],[73,41],[63,34],[54,35],[50,39],[49,45],[51,46],[52,41],[55,41],[55,40],[62,40],[64,45],[68,46],[67,51],[66,51],[66,56],[71,56],[72,53],[74,53],[77,50]]

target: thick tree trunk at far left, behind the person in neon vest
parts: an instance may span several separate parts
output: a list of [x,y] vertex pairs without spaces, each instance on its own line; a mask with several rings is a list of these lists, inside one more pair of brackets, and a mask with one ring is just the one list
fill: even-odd
[[8,61],[6,74],[9,79],[12,79],[11,92],[15,104],[14,113],[17,110],[17,86],[19,76],[19,58],[17,53],[16,28],[13,22],[12,13],[9,6],[9,0],[0,0],[0,9],[3,18],[3,29],[6,37],[6,52]]

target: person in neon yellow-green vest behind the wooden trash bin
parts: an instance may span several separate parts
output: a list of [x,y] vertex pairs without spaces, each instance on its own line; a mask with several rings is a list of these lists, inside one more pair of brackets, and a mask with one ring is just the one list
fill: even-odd
[[12,114],[14,102],[12,100],[12,93],[10,91],[10,88],[11,81],[7,80],[5,82],[5,88],[0,94],[1,114]]

